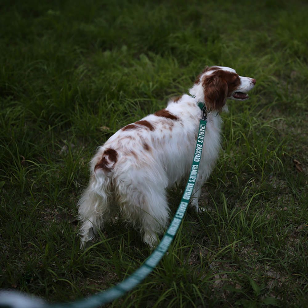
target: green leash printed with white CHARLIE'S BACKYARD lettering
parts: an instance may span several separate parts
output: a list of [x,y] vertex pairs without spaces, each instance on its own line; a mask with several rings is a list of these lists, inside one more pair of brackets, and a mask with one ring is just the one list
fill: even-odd
[[[194,97],[193,97],[194,98]],[[144,261],[144,263],[137,269],[134,273],[132,273],[128,278],[124,279],[122,282],[118,283],[114,287],[111,287],[108,290],[102,291],[98,294],[91,295],[87,298],[83,298],[81,300],[77,300],[71,303],[61,303],[61,304],[39,304],[35,301],[35,299],[27,298],[27,300],[33,301],[33,306],[36,308],[96,308],[107,304],[108,302],[112,302],[116,298],[121,297],[129,290],[132,290],[135,286],[140,284],[152,272],[152,270],[159,263],[161,258],[167,252],[172,240],[174,239],[177,230],[180,227],[184,214],[186,212],[190,197],[193,193],[193,188],[195,186],[195,180],[199,168],[199,163],[201,159],[201,152],[203,147],[203,140],[205,136],[205,128],[207,123],[207,111],[205,104],[202,102],[197,102],[199,108],[202,111],[202,119],[200,119],[199,132],[197,137],[196,149],[193,157],[193,164],[189,175],[189,180],[186,185],[183,197],[180,201],[180,205],[169,225],[168,230],[164,234],[164,237],[161,239],[159,245],[153,251],[153,253]],[[24,308],[25,306],[16,305],[14,303],[14,296],[16,293],[10,292],[10,298],[5,300],[4,297],[0,293],[0,307],[14,307],[14,308]],[[23,295],[24,296],[24,295]],[[28,306],[27,306],[28,307]],[[29,306],[30,308],[31,306]],[[26,308],[26,307],[25,307]]]

